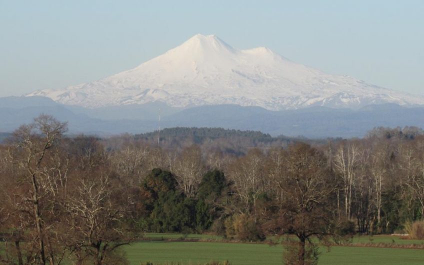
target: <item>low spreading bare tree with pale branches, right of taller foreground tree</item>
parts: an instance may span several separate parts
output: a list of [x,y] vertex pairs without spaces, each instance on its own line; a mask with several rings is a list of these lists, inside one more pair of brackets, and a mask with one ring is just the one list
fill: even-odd
[[101,265],[117,247],[128,243],[129,237],[119,228],[128,204],[121,196],[107,175],[82,178],[69,194],[65,202],[72,233],[68,246],[78,264],[92,258],[94,264]]

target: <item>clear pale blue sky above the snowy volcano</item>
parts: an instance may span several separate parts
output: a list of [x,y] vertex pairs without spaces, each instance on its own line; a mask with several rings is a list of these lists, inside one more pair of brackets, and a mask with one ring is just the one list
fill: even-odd
[[196,33],[424,94],[424,0],[0,0],[0,96],[96,80]]

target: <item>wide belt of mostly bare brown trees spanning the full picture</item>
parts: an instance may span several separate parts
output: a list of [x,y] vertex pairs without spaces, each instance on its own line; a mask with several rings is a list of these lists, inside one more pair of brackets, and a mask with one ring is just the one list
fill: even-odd
[[65,122],[40,115],[0,145],[3,263],[125,264],[120,246],[156,231],[292,234],[286,263],[307,264],[317,258],[312,237],[392,233],[424,218],[424,134],[415,127],[243,152],[65,132]]

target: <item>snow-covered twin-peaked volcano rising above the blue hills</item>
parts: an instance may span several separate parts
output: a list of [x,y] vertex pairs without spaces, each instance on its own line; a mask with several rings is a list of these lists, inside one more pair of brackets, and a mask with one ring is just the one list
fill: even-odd
[[357,108],[379,103],[424,104],[424,96],[327,74],[265,47],[239,50],[215,35],[201,34],[133,69],[27,95],[90,108],[153,101],[177,107],[238,104],[269,110],[312,105]]

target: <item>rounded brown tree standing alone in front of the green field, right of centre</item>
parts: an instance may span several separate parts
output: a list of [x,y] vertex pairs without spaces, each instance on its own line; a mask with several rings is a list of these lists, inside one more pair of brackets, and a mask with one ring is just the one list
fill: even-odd
[[314,264],[316,245],[312,236],[330,234],[334,219],[335,181],[321,152],[303,143],[285,153],[282,174],[276,179],[282,199],[270,220],[270,228],[280,234],[294,234],[298,242],[286,253],[288,264]]

